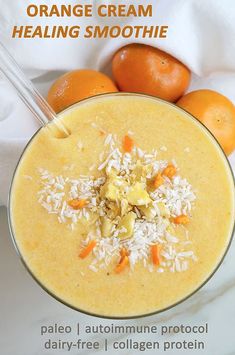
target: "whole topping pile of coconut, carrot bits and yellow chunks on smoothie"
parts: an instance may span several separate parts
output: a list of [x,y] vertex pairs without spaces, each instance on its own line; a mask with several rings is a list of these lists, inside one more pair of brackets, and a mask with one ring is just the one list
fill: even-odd
[[74,232],[79,223],[88,226],[79,256],[90,258],[94,272],[113,264],[117,273],[133,270],[139,262],[150,272],[187,270],[197,260],[187,231],[192,186],[174,160],[137,148],[131,133],[121,142],[113,134],[104,140],[100,163],[90,169],[99,177],[40,169],[38,202]]

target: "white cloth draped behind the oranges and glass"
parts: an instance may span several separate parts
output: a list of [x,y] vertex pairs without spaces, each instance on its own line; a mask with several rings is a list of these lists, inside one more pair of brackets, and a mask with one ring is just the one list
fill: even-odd
[[[30,0],[0,0],[0,36],[25,73],[45,95],[61,72],[77,68],[108,71],[112,54],[131,42],[161,48],[184,62],[193,72],[189,91],[211,88],[235,103],[235,2],[234,0],[86,0],[93,3],[152,4],[152,18],[28,18]],[[39,3],[74,4],[72,0]],[[169,26],[167,39],[12,39],[13,25],[115,25]],[[38,128],[31,113],[0,78],[0,204],[6,204],[10,180],[26,142]],[[230,157],[235,167],[235,154]]]

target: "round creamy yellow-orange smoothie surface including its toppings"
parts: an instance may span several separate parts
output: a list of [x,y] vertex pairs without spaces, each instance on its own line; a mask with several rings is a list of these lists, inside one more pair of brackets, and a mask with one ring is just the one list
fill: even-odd
[[107,317],[187,297],[233,230],[233,177],[214,138],[174,105],[138,95],[90,99],[60,119],[71,135],[42,128],[11,191],[32,274],[66,304]]

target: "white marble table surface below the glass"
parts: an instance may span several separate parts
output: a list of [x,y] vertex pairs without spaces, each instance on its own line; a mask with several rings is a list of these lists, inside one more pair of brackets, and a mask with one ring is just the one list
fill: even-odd
[[[232,156],[235,168],[235,155]],[[235,355],[235,242],[214,277],[194,296],[177,307],[159,315],[130,320],[111,321],[83,315],[54,300],[32,279],[21,264],[12,244],[6,208],[0,208],[0,354],[1,355],[42,355],[42,354],[137,354],[140,351],[78,351],[45,350],[41,337],[42,325],[55,323],[81,327],[98,324],[152,324],[152,325],[199,325],[208,323],[209,333],[203,336],[176,335],[164,337],[164,341],[202,339],[206,349],[153,351],[146,354],[206,354]],[[108,335],[110,342],[129,337],[128,335]],[[132,335],[133,340],[159,340],[156,335]],[[58,339],[59,335],[51,335]],[[61,336],[62,340],[74,340],[74,335]],[[83,335],[82,340],[104,338],[103,335]],[[161,339],[162,340],[162,339]]]

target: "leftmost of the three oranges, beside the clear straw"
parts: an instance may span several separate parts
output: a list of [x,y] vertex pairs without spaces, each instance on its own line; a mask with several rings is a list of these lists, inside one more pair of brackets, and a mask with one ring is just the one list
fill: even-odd
[[48,92],[47,101],[56,113],[87,97],[117,92],[113,81],[95,70],[74,70],[58,78]]

